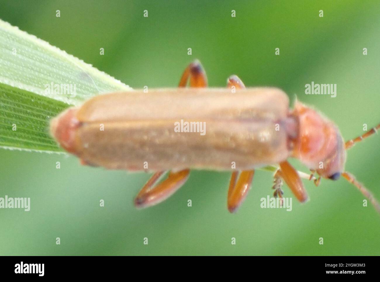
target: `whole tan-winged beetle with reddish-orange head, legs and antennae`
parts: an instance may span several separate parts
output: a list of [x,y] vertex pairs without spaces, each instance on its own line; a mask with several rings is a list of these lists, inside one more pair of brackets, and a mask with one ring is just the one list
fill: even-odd
[[[188,80],[190,88],[184,88]],[[138,193],[137,207],[167,199],[186,182],[190,169],[213,169],[233,171],[227,201],[233,212],[247,195],[255,168],[279,164],[275,196],[282,196],[281,179],[304,202],[301,177],[318,185],[321,177],[336,180],[342,175],[380,212],[374,196],[344,171],[346,149],[380,124],[344,143],[337,126],[317,111],[300,102],[289,110],[288,96],[280,89],[246,89],[236,75],[228,78],[227,89],[206,87],[206,74],[195,61],[185,69],[179,88],[93,97],[52,119],[51,133],[82,164],[133,171],[146,170],[148,164],[155,173]],[[184,120],[204,123],[207,133],[176,132],[175,125]],[[312,174],[297,172],[289,157],[298,158]],[[160,182],[165,171],[168,177]]]

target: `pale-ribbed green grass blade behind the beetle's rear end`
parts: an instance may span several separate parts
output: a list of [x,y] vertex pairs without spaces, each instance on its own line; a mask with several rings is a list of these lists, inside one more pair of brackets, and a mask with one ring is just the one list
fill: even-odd
[[[65,92],[62,85],[75,91]],[[59,152],[49,135],[51,117],[97,94],[128,90],[119,80],[0,20],[0,147]]]

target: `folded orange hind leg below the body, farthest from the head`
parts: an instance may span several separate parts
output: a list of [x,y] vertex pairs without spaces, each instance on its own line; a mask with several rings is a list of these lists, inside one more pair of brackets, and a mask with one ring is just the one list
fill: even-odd
[[146,208],[156,205],[174,194],[186,182],[189,169],[169,172],[168,178],[155,185],[163,175],[163,171],[156,172],[144,185],[135,198],[135,206]]

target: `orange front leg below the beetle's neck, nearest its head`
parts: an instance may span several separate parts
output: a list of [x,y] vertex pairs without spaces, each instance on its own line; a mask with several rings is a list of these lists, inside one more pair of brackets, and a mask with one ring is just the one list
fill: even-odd
[[291,166],[288,161],[280,163],[280,169],[276,172],[287,183],[294,196],[300,202],[307,200],[307,193],[302,183],[301,177],[299,177],[297,171]]

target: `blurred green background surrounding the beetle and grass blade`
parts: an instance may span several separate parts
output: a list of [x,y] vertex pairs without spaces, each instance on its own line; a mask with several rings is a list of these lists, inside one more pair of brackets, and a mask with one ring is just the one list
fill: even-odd
[[[364,123],[380,121],[379,13],[377,0],[0,3],[1,19],[133,88],[175,87],[197,58],[211,87],[225,86],[231,74],[247,86],[277,86],[292,101],[296,95],[331,118],[345,139],[363,134]],[[311,81],[336,83],[337,97],[305,95]],[[350,149],[346,164],[378,199],[379,138]],[[297,160],[291,163],[307,172]],[[31,198],[29,212],[0,209],[1,255],[380,254],[380,216],[370,204],[363,207],[361,193],[344,179],[323,179],[319,187],[305,181],[310,201],[294,199],[287,212],[260,208],[260,198],[272,194],[272,174],[256,171],[246,201],[231,215],[230,173],[192,171],[176,194],[144,210],[133,207],[133,198],[146,173],[89,168],[72,156],[0,150],[0,175],[0,197]],[[291,196],[287,186],[284,191]]]

